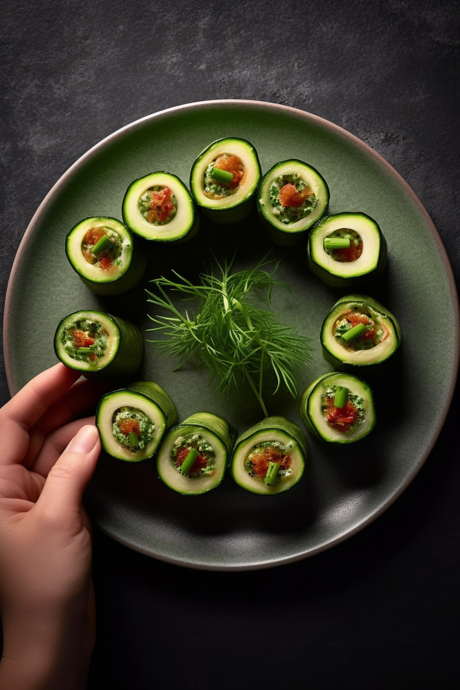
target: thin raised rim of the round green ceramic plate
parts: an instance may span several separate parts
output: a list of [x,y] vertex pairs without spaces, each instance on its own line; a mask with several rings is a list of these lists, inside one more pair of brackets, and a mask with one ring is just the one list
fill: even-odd
[[4,304],[4,313],[3,313],[3,355],[4,355],[4,366],[5,366],[5,373],[6,373],[6,382],[8,385],[8,391],[10,395],[14,395],[14,393],[17,393],[17,388],[14,382],[14,375],[12,372],[12,365],[11,365],[11,343],[10,343],[10,322],[11,322],[11,317],[12,317],[12,309],[11,309],[11,303],[12,299],[14,296],[14,288],[17,283],[17,273],[19,271],[19,266],[21,266],[21,259],[23,257],[23,254],[26,251],[26,246],[28,245],[30,237],[32,237],[35,226],[37,224],[37,221],[39,220],[39,217],[43,213],[46,213],[48,208],[52,205],[54,201],[54,197],[56,197],[61,188],[67,184],[67,181],[72,178],[73,175],[77,174],[79,172],[80,168],[86,164],[87,159],[90,159],[92,155],[94,155],[95,152],[101,151],[106,146],[112,144],[114,141],[117,139],[123,137],[123,134],[128,131],[128,130],[135,130],[143,124],[145,124],[147,121],[155,121],[159,119],[163,119],[164,117],[168,117],[170,114],[174,112],[187,112],[188,110],[192,109],[197,109],[201,108],[203,106],[217,106],[217,107],[230,107],[230,108],[254,108],[254,110],[268,110],[271,112],[280,112],[288,115],[294,115],[294,117],[297,117],[300,120],[303,121],[309,121],[309,122],[314,122],[316,124],[319,124],[321,127],[326,128],[326,130],[330,130],[337,135],[340,135],[344,139],[348,140],[350,143],[352,143],[354,146],[357,146],[358,148],[361,148],[361,150],[365,151],[368,155],[373,157],[377,163],[380,164],[383,168],[386,168],[387,172],[394,177],[397,182],[399,183],[399,186],[405,190],[406,194],[410,199],[412,199],[412,202],[414,203],[415,206],[417,206],[419,212],[423,216],[424,220],[428,224],[428,227],[430,228],[430,231],[432,233],[432,236],[434,238],[434,241],[437,245],[437,250],[439,252],[439,255],[443,261],[444,264],[444,269],[446,271],[446,275],[448,278],[448,284],[450,288],[450,296],[452,298],[452,305],[454,307],[454,319],[455,319],[455,333],[454,333],[454,342],[455,342],[455,352],[456,352],[456,357],[455,357],[455,362],[454,362],[454,372],[452,374],[451,380],[450,380],[450,389],[448,391],[448,395],[446,397],[446,402],[441,414],[441,417],[439,417],[439,423],[437,424],[437,427],[434,430],[434,433],[432,435],[432,439],[430,440],[430,443],[426,447],[425,452],[421,455],[421,458],[419,462],[417,463],[416,466],[414,466],[413,471],[408,475],[406,478],[406,481],[399,486],[397,491],[395,491],[388,499],[384,502],[382,506],[380,506],[379,509],[375,510],[373,513],[368,515],[365,519],[361,520],[359,524],[355,525],[352,529],[347,530],[343,534],[339,534],[335,536],[334,538],[326,541],[326,543],[321,544],[320,546],[317,546],[314,549],[310,549],[309,551],[306,552],[300,552],[300,553],[295,553],[293,555],[289,555],[286,557],[281,557],[281,558],[276,558],[272,560],[263,560],[259,562],[253,562],[251,564],[232,564],[232,565],[212,565],[212,564],[203,564],[203,563],[197,563],[197,562],[183,562],[181,560],[175,559],[175,558],[168,558],[165,555],[161,554],[154,554],[151,551],[148,551],[148,549],[144,549],[142,546],[133,544],[132,542],[124,539],[120,535],[117,535],[116,533],[103,528],[102,526],[98,525],[98,529],[101,530],[102,533],[110,536],[110,538],[114,539],[115,541],[119,542],[120,544],[123,544],[123,546],[128,546],[130,549],[133,549],[134,551],[138,551],[139,553],[146,554],[150,556],[151,558],[157,558],[158,560],[161,560],[163,562],[167,562],[170,564],[186,567],[186,568],[192,568],[192,569],[197,569],[197,570],[208,570],[208,571],[251,571],[251,570],[259,570],[259,569],[266,569],[266,568],[271,568],[271,567],[276,567],[276,566],[281,566],[284,564],[292,563],[298,560],[303,560],[304,558],[310,558],[312,555],[315,555],[316,553],[321,553],[321,551],[326,551],[327,549],[330,549],[332,546],[335,546],[336,544],[340,544],[341,542],[347,540],[348,538],[352,537],[352,535],[356,534],[357,532],[361,531],[366,527],[368,524],[371,522],[374,522],[374,520],[379,517],[382,513],[384,513],[393,503],[397,498],[403,493],[403,491],[406,491],[408,485],[414,480],[414,477],[419,473],[421,467],[423,464],[425,464],[428,456],[430,455],[432,449],[434,448],[434,445],[436,444],[439,435],[441,433],[441,430],[443,428],[444,423],[446,422],[446,417],[448,415],[448,411],[450,408],[450,404],[452,403],[452,397],[454,395],[454,388],[456,385],[457,381],[457,375],[458,375],[458,370],[459,370],[459,360],[460,360],[460,310],[459,310],[459,298],[457,295],[457,286],[455,284],[454,280],[454,274],[452,271],[452,266],[450,265],[450,261],[448,258],[448,254],[446,252],[446,248],[443,245],[443,242],[441,240],[441,237],[437,231],[436,226],[434,226],[434,223],[428,215],[428,211],[426,208],[423,206],[421,203],[419,197],[414,193],[414,190],[410,187],[408,182],[406,182],[403,177],[393,168],[393,166],[388,163],[388,161],[383,158],[377,151],[375,151],[371,146],[366,144],[366,142],[362,141],[355,135],[353,135],[351,132],[348,132],[347,130],[343,129],[341,126],[334,124],[330,120],[327,120],[323,117],[320,117],[319,115],[314,115],[314,113],[308,112],[306,110],[301,110],[300,108],[292,108],[292,106],[286,106],[282,105],[280,103],[271,103],[270,101],[256,101],[256,100],[250,100],[250,99],[210,99],[206,101],[194,101],[192,103],[183,103],[179,106],[172,106],[171,108],[166,108],[164,110],[159,110],[158,112],[153,112],[150,113],[150,115],[145,115],[144,117],[141,117],[137,120],[134,120],[130,122],[127,125],[124,125],[123,127],[119,128],[118,130],[115,130],[112,132],[110,135],[107,137],[104,137],[101,139],[101,141],[98,141],[97,144],[94,144],[91,148],[89,148],[81,157],[77,159],[77,161],[74,161],[74,163],[65,171],[63,172],[63,175],[59,177],[59,179],[54,183],[52,188],[49,190],[49,192],[46,194],[46,196],[43,198],[43,201],[41,201],[41,204],[39,204],[37,210],[35,211],[34,215],[32,215],[32,219],[30,220],[23,237],[21,238],[21,242],[19,243],[19,247],[17,248],[17,253],[14,257],[14,262],[12,264],[12,268],[10,271],[10,276],[8,278],[8,286],[6,289],[6,297],[5,297],[5,304]]

